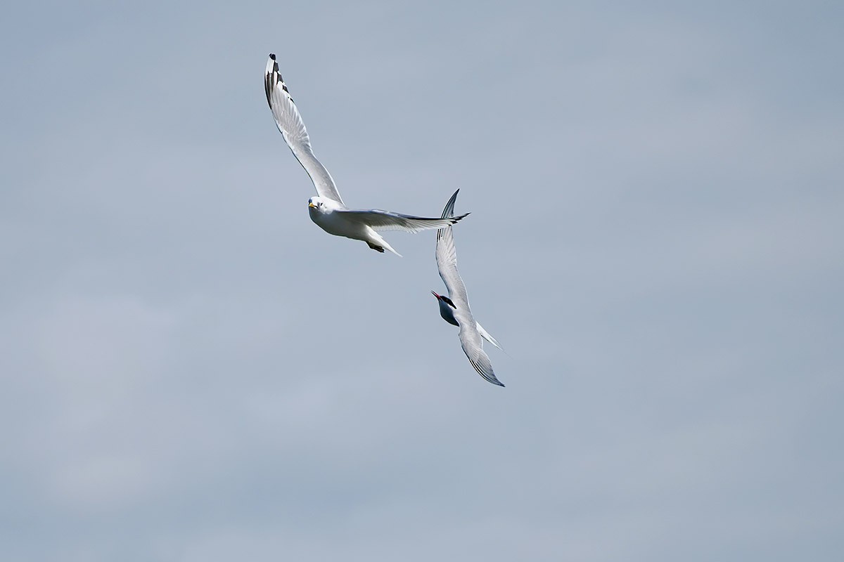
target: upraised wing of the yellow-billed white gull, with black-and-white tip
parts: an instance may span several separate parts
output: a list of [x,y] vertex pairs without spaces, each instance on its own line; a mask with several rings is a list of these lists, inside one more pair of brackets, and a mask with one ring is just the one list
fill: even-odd
[[293,155],[299,160],[302,168],[311,176],[311,181],[317,188],[317,194],[343,205],[343,199],[340,198],[331,174],[328,174],[328,170],[317,160],[311,150],[311,139],[308,137],[305,123],[299,115],[299,110],[296,109],[296,104],[293,103],[293,98],[290,97],[287,86],[284,85],[284,80],[279,74],[279,63],[275,61],[273,54],[270,54],[267,60],[264,90],[267,92],[269,109],[273,112],[275,124],[279,126],[281,135],[284,136],[284,142],[287,142],[287,146],[293,151]]

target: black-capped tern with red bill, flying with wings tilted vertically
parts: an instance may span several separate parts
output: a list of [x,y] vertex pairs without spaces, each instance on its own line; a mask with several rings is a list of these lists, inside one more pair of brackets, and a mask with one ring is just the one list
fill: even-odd
[[[442,210],[443,218],[454,215],[454,201],[457,201],[457,193],[459,192],[460,190],[455,191],[452,198],[446,203],[446,208]],[[442,282],[446,284],[446,289],[448,289],[448,297],[431,291],[440,304],[440,316],[448,324],[460,327],[460,345],[463,345],[463,353],[469,358],[469,362],[472,363],[475,371],[490,383],[503,387],[504,385],[500,383],[495,377],[495,372],[492,371],[492,363],[490,363],[490,357],[486,355],[483,349],[484,342],[481,338],[489,341],[498,349],[501,349],[501,346],[489,332],[475,321],[472,311],[469,309],[466,286],[463,285],[463,279],[457,272],[457,251],[454,249],[454,237],[450,226],[436,231],[436,267],[440,270]]]

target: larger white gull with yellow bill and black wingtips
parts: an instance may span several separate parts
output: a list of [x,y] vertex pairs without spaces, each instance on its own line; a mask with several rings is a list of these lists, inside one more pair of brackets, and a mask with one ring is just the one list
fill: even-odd
[[296,104],[284,80],[279,74],[279,63],[275,55],[270,53],[267,61],[267,70],[264,76],[264,89],[267,92],[269,109],[273,112],[275,124],[279,126],[284,142],[293,151],[293,155],[299,160],[302,168],[311,176],[314,187],[317,188],[317,196],[308,200],[308,212],[311,221],[325,232],[335,236],[344,236],[354,240],[363,240],[381,254],[385,249],[401,257],[396,250],[378,231],[381,230],[403,230],[408,233],[418,233],[420,230],[429,228],[441,228],[451,226],[466,215],[460,217],[426,218],[403,215],[398,212],[381,211],[381,209],[349,209],[344,205],[343,198],[334,185],[334,180],[325,166],[317,160],[311,149],[311,139],[305,129]]

